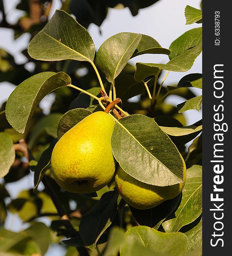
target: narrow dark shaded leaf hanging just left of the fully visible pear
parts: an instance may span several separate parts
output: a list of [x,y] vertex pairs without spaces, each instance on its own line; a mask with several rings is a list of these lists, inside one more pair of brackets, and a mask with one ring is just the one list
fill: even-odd
[[41,182],[42,178],[44,177],[44,174],[47,169],[50,168],[50,161],[52,157],[52,150],[55,147],[55,144],[57,143],[57,139],[52,140],[49,147],[42,153],[37,165],[35,166],[35,173],[34,173],[34,184],[35,187],[33,189],[33,192],[37,193],[37,188],[39,186],[39,183]]

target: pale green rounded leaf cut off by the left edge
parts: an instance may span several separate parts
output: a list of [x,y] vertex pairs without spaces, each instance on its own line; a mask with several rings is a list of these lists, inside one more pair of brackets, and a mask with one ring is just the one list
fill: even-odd
[[8,174],[15,159],[12,139],[4,132],[0,132],[0,159],[0,178],[2,178]]

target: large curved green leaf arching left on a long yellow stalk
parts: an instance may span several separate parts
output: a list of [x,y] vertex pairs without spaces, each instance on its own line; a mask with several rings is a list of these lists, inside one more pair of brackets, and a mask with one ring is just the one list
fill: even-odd
[[26,79],[13,90],[7,100],[8,122],[16,131],[23,133],[41,99],[70,83],[70,77],[63,72],[42,72]]

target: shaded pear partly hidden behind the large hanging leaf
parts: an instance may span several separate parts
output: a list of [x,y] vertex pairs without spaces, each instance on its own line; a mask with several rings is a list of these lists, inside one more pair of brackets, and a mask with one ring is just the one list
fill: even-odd
[[118,165],[115,182],[119,194],[127,204],[136,209],[150,209],[165,200],[174,198],[181,192],[186,182],[186,168],[184,169],[183,183],[161,187],[136,180]]

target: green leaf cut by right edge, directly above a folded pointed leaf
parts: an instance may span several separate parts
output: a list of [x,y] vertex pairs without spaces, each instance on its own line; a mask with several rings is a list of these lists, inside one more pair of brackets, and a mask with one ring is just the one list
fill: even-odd
[[170,60],[196,45],[202,46],[202,27],[188,30],[171,43],[169,47],[171,51]]

